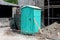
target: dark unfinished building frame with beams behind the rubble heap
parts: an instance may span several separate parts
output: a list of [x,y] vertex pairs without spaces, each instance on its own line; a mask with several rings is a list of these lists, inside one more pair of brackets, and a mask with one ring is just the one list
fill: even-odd
[[[48,5],[49,3],[49,5]],[[50,25],[54,22],[60,23],[60,0],[44,1],[44,23]]]

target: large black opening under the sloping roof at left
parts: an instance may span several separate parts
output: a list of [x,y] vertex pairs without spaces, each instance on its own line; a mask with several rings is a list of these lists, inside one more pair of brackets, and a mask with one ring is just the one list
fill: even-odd
[[12,17],[12,7],[0,5],[0,18]]

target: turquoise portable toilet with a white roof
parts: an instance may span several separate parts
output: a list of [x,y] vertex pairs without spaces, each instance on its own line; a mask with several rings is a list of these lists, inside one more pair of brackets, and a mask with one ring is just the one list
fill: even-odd
[[41,28],[41,8],[36,6],[23,6],[21,8],[21,33],[35,34]]

